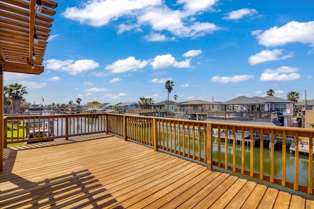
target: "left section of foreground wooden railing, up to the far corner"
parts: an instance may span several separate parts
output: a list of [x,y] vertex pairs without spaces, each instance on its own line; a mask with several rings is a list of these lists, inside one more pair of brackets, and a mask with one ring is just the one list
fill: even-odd
[[4,146],[9,143],[69,139],[105,132],[104,114],[6,116]]

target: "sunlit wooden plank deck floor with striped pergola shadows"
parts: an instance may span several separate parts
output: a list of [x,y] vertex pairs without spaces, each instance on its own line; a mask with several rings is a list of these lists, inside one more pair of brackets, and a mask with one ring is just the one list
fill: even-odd
[[314,208],[314,201],[111,135],[4,150],[0,208]]

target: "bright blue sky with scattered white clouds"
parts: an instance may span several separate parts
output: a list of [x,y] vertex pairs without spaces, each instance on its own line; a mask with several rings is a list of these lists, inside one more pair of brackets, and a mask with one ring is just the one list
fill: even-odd
[[314,99],[313,0],[60,0],[27,102]]

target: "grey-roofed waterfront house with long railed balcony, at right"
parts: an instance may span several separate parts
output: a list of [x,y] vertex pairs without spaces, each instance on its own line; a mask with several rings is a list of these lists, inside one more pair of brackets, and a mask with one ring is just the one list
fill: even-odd
[[263,125],[293,125],[294,102],[276,96],[239,96],[221,103],[221,112],[209,112],[209,121]]

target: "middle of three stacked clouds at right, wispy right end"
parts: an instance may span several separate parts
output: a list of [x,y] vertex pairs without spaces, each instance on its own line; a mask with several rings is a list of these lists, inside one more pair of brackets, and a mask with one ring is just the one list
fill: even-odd
[[292,57],[293,53],[289,55],[283,55],[282,49],[274,49],[274,50],[262,50],[260,53],[252,55],[249,57],[248,62],[250,65],[256,65],[263,62],[274,61],[274,60],[284,60]]

